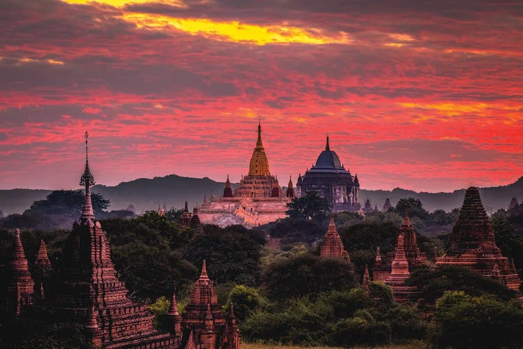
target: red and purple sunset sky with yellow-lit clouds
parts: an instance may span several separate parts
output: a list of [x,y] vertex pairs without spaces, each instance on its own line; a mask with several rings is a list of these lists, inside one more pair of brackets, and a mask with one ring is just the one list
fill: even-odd
[[0,0],[0,189],[294,180],[328,134],[362,188],[523,175],[521,1]]

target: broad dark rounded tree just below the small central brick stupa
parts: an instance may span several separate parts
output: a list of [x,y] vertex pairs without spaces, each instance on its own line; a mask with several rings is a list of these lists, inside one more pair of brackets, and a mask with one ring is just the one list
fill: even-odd
[[326,258],[303,253],[277,260],[261,273],[261,282],[271,299],[343,290],[358,285],[351,263],[343,258]]

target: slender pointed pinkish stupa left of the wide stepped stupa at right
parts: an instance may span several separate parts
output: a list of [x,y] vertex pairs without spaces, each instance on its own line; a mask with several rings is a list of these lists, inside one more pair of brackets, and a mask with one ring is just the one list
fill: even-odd
[[400,234],[397,236],[397,247],[391,274],[385,281],[393,289],[394,299],[398,303],[408,301],[411,299],[411,295],[416,293],[416,288],[405,285],[405,280],[409,276],[409,262],[405,256],[403,235]]

